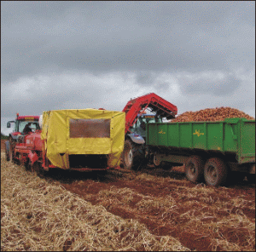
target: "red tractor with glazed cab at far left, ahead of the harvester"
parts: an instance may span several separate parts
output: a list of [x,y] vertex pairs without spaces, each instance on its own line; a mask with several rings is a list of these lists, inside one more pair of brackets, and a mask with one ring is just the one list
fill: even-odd
[[9,141],[5,142],[6,159],[13,159],[15,146],[18,143],[19,137],[22,138],[30,132],[35,132],[39,128],[39,116],[20,116],[16,114],[15,121],[9,121],[7,128],[11,128],[11,123],[15,123],[15,129],[9,134]]

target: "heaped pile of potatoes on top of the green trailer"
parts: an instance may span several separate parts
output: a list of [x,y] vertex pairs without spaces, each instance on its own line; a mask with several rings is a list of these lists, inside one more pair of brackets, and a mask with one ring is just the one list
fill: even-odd
[[238,109],[231,108],[229,106],[221,106],[216,108],[207,108],[197,112],[184,112],[178,115],[171,123],[181,122],[201,122],[201,121],[224,121],[225,118],[244,117],[249,120],[255,120],[254,117],[250,117],[245,112],[241,112]]

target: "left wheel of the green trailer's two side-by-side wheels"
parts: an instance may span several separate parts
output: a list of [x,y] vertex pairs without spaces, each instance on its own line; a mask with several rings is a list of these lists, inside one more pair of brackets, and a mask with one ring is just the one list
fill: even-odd
[[204,174],[204,160],[200,156],[191,156],[185,163],[185,174],[189,181],[200,182]]

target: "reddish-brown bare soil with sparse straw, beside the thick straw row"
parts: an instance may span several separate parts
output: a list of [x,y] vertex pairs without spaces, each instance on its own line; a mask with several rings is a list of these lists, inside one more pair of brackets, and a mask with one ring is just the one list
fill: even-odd
[[190,250],[255,250],[255,184],[247,180],[213,188],[186,180],[183,167],[149,166],[107,174],[51,169],[41,179],[113,215],[137,220],[153,235],[176,238]]

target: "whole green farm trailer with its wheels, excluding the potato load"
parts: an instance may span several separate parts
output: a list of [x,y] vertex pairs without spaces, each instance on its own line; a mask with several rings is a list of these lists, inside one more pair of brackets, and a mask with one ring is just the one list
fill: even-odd
[[185,164],[190,181],[220,186],[234,175],[255,180],[255,120],[148,123],[146,143],[156,167]]

